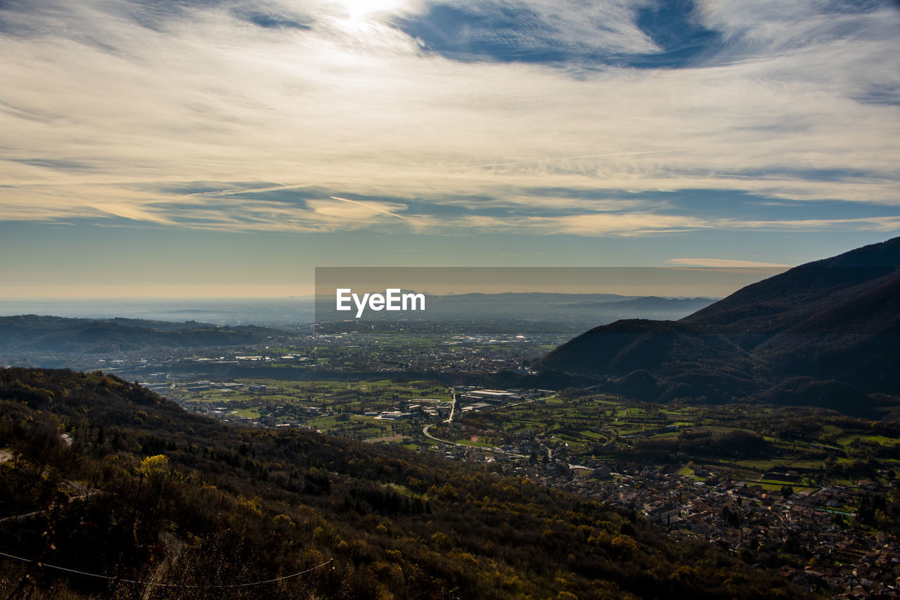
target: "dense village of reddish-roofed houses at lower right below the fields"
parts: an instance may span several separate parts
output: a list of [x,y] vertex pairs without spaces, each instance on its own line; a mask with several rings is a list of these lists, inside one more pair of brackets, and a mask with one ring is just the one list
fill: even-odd
[[716,542],[750,560],[764,555],[770,567],[771,557],[779,557],[773,569],[812,591],[900,598],[900,544],[887,533],[853,523],[851,507],[878,485],[871,481],[783,495],[756,482],[716,479],[713,473],[707,480],[653,468],[613,473],[615,478],[605,480],[563,479],[546,467],[536,473],[547,485],[643,513],[677,537]]

